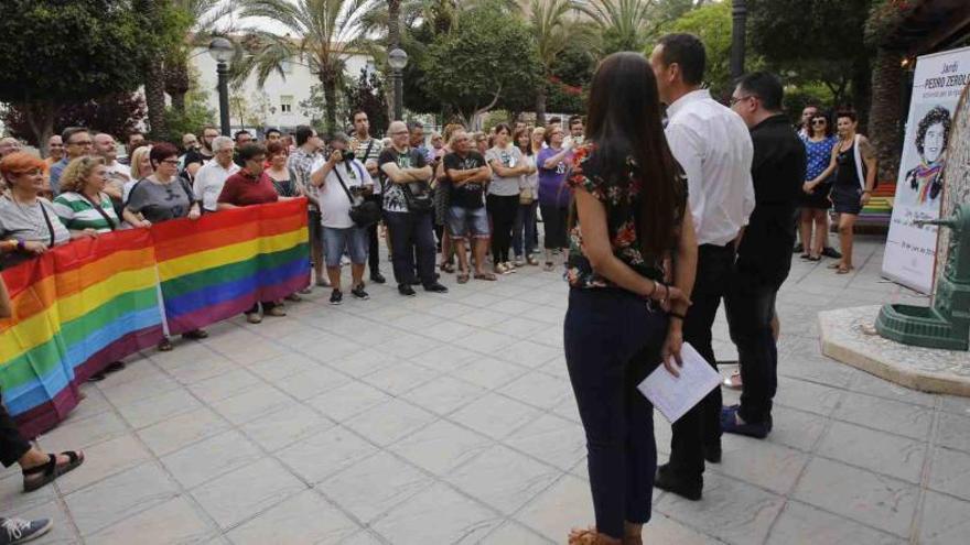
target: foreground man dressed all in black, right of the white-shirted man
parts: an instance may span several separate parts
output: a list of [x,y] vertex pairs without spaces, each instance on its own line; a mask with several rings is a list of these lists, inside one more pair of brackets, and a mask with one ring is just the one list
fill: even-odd
[[791,268],[794,219],[806,164],[805,145],[782,112],[783,92],[778,78],[754,73],[741,79],[731,99],[754,143],[755,208],[737,248],[725,305],[744,390],[740,405],[722,410],[721,429],[757,438],[772,430],[772,399],[778,385],[772,318],[778,290]]

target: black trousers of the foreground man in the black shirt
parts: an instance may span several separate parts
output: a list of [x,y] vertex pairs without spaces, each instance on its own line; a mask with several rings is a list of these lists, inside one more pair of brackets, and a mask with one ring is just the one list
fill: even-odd
[[744,383],[739,413],[750,424],[770,418],[772,400],[778,390],[778,347],[772,318],[779,288],[759,285],[736,272],[724,305]]

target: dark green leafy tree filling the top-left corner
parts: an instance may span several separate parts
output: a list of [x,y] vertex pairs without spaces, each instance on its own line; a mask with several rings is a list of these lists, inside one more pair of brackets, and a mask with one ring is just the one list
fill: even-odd
[[60,103],[136,90],[157,53],[128,1],[8,0],[3,11],[0,101],[24,112],[44,152]]

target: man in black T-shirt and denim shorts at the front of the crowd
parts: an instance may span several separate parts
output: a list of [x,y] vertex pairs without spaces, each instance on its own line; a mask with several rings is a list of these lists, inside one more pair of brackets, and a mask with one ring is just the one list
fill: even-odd
[[488,215],[485,211],[485,184],[492,179],[492,168],[485,157],[472,150],[472,139],[465,131],[455,131],[451,149],[444,156],[444,172],[451,181],[451,207],[448,211],[448,229],[459,257],[459,284],[468,281],[468,255],[465,242],[474,240],[475,277],[495,280],[486,272],[485,252],[488,251]]

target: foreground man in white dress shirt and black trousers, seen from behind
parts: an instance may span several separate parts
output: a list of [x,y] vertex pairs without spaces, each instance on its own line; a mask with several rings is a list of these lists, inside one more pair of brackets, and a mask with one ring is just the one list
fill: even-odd
[[[660,100],[668,105],[667,142],[687,174],[697,230],[697,280],[683,340],[714,366],[711,327],[755,200],[747,126],[701,88],[705,62],[704,45],[692,34],[668,34],[650,55]],[[704,459],[721,460],[720,416],[715,389],[673,424],[670,462],[658,469],[657,488],[700,500]]]

